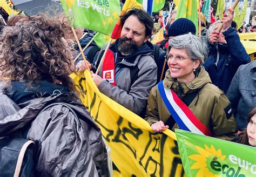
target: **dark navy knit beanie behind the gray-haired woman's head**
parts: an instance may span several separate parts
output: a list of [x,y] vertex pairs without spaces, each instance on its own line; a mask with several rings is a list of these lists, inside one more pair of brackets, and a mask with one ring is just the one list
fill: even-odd
[[170,26],[168,30],[168,37],[185,35],[188,32],[196,35],[196,26],[191,20],[187,18],[179,18]]

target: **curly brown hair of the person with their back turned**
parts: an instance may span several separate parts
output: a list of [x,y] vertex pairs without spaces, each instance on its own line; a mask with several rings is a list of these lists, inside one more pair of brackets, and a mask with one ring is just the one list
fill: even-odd
[[75,70],[72,52],[65,44],[71,26],[64,15],[45,14],[7,26],[0,42],[0,71],[5,80],[61,83],[75,91],[69,74]]

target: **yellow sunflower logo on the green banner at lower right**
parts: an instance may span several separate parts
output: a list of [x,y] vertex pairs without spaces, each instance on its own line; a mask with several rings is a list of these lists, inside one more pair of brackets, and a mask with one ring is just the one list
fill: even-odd
[[[216,176],[218,174],[214,174],[215,171],[211,170],[211,161],[212,160],[225,160],[226,155],[221,155],[221,149],[216,151],[215,147],[211,145],[211,148],[205,145],[205,149],[199,146],[196,146],[199,154],[193,154],[188,156],[188,158],[196,161],[190,169],[199,169],[197,176]],[[216,172],[215,172],[216,173]]]

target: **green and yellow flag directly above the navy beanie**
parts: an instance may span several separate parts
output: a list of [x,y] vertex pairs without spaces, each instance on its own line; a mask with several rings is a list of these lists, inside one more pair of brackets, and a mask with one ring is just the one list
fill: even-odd
[[[198,13],[197,13],[197,1],[194,0],[180,0],[179,8],[177,9],[176,18],[190,19],[198,31]],[[196,32],[197,33],[197,32]]]

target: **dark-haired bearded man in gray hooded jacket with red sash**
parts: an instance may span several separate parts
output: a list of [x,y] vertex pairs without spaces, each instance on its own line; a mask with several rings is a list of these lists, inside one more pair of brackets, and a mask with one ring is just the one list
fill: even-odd
[[[92,73],[92,79],[100,92],[143,116],[149,92],[157,81],[154,46],[148,40],[153,20],[146,11],[134,8],[121,16],[120,21],[121,37],[110,45],[99,75]],[[84,71],[85,62],[79,62],[77,69]]]

